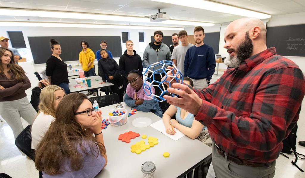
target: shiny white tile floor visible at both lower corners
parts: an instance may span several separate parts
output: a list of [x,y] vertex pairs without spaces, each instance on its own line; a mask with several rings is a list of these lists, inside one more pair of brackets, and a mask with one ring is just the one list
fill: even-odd
[[[213,76],[212,82],[218,77]],[[30,93],[27,91],[28,97]],[[303,106],[305,100],[303,100]],[[305,107],[302,108],[298,121],[297,142],[305,141]],[[3,120],[3,119],[2,119]],[[23,120],[23,126],[26,127],[27,122]],[[305,147],[296,144],[297,152],[305,154]],[[287,155],[289,159],[280,155],[276,163],[276,171],[274,178],[304,178],[305,173],[293,166],[290,162],[295,159],[294,155]],[[305,170],[305,160],[298,159],[297,165]],[[13,178],[33,178],[39,177],[38,171],[32,160],[22,156],[16,148],[13,132],[5,121],[0,122],[0,173],[6,173]]]

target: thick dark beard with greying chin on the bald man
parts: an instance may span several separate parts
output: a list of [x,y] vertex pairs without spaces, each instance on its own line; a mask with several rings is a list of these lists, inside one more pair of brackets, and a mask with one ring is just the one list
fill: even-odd
[[249,37],[249,32],[246,32],[245,40],[237,47],[236,56],[231,57],[231,67],[239,67],[240,63],[248,59],[252,52],[253,43]]

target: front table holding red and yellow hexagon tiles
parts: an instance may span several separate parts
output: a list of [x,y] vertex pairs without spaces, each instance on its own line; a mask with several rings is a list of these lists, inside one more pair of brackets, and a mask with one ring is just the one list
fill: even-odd
[[[128,112],[133,109],[124,102],[121,104]],[[117,105],[113,104],[99,108],[103,112],[103,119],[108,119],[108,111],[114,109]],[[148,117],[152,120],[152,123],[161,119],[152,112],[137,111],[136,114],[127,117],[128,120],[125,125],[119,127],[109,125],[102,130],[108,163],[96,178],[142,178],[141,165],[145,161],[152,161],[156,165],[156,178],[183,177],[192,173],[192,169],[195,169],[206,159],[211,158],[212,149],[197,139],[193,140],[185,135],[174,141],[151,126],[145,128],[134,127],[132,121],[139,117]],[[139,133],[140,136],[131,139],[130,143],[118,140],[120,134],[129,131]],[[159,143],[140,154],[131,152],[130,146],[136,142],[144,140],[145,144],[148,144],[148,139],[142,139],[141,137],[144,134],[147,135],[147,138],[149,136],[158,138]],[[169,152],[170,156],[168,158],[163,157],[164,152]]]

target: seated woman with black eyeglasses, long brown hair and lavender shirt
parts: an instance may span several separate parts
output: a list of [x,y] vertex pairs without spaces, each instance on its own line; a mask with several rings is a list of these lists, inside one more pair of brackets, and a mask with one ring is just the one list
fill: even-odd
[[95,177],[106,166],[101,114],[82,93],[59,102],[56,119],[35,152],[43,177]]

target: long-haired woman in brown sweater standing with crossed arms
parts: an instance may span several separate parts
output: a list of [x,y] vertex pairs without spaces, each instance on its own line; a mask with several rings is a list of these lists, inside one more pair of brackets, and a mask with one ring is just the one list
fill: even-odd
[[0,115],[12,128],[16,139],[23,130],[20,117],[33,124],[37,112],[25,93],[31,87],[30,80],[13,57],[11,50],[0,48]]

